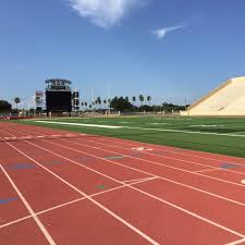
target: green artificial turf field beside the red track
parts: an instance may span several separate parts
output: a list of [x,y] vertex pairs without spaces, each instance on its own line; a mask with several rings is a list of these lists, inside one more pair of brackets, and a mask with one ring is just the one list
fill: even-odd
[[[62,125],[32,121],[21,123],[106,135],[158,145],[175,146],[229,156],[245,157],[245,119],[242,118],[91,118],[51,119],[86,125]],[[98,127],[102,126],[102,127]],[[107,128],[113,125],[119,128]]]

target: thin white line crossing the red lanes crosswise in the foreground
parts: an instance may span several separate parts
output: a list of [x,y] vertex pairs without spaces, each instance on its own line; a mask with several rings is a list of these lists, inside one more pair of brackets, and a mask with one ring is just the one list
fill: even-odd
[[[140,180],[140,181],[137,181],[137,182],[134,182],[134,183],[123,184],[123,185],[114,187],[114,188],[110,188],[110,189],[107,189],[107,191],[103,191],[103,192],[91,194],[91,195],[89,195],[89,197],[100,196],[100,195],[102,195],[105,193],[110,193],[110,192],[113,192],[113,191],[117,191],[117,189],[120,189],[120,188],[125,188],[125,187],[127,187],[130,185],[136,185],[136,184],[139,184],[139,183],[151,181],[151,180],[156,180],[156,179],[157,177],[151,177],[151,179],[147,179],[147,180]],[[59,209],[59,208],[62,208],[62,207],[65,207],[65,206],[78,203],[78,201],[84,200],[84,199],[87,199],[87,197],[81,197],[81,198],[77,198],[77,199],[74,199],[74,200],[71,200],[71,201],[68,201],[68,203],[64,203],[64,204],[61,204],[61,205],[48,208],[48,209],[44,209],[41,211],[36,212],[35,215],[36,216],[40,216],[40,215],[44,215],[46,212],[50,212],[52,210],[56,210],[56,209]],[[21,221],[24,221],[24,220],[27,220],[27,219],[30,219],[30,218],[32,218],[32,216],[26,216],[26,217],[23,217],[21,219],[17,219],[17,220],[4,223],[4,224],[0,225],[0,229],[1,228],[5,228],[5,226],[10,226],[12,224],[19,223]]]

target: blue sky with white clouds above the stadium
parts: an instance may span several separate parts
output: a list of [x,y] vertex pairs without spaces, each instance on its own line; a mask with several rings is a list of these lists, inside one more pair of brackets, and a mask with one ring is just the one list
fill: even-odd
[[0,98],[30,103],[61,77],[87,101],[110,84],[111,97],[192,102],[245,75],[244,12],[243,0],[1,0]]

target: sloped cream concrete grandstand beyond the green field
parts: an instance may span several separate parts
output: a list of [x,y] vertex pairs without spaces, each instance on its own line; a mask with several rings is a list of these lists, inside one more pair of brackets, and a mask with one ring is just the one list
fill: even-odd
[[182,111],[182,115],[245,115],[245,76],[221,84]]

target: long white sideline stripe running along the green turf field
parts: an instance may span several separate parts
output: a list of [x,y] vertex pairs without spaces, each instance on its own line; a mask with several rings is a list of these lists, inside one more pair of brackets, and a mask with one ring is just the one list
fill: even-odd
[[99,128],[110,128],[110,130],[142,130],[142,131],[160,131],[160,132],[172,132],[172,133],[184,133],[184,134],[203,134],[203,135],[217,135],[217,136],[229,136],[229,137],[243,137],[245,135],[241,134],[223,134],[223,133],[212,133],[212,132],[199,132],[199,131],[181,131],[171,128],[149,128],[149,127],[136,127],[136,126],[115,126],[115,125],[99,125],[99,124],[85,124],[85,123],[68,123],[68,122],[56,122],[56,121],[34,121],[44,124],[58,124],[58,125],[70,125],[70,126],[87,126],[87,127],[99,127]]

